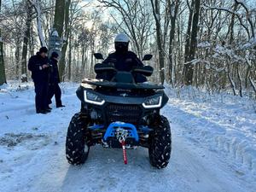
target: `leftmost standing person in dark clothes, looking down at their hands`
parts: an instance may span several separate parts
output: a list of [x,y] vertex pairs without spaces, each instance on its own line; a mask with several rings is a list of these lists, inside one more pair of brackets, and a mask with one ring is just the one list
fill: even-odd
[[28,61],[28,69],[32,72],[32,80],[35,85],[35,102],[37,113],[49,113],[47,108],[47,90],[48,90],[48,68],[49,59],[47,57],[48,49],[42,47],[36,55],[33,55]]

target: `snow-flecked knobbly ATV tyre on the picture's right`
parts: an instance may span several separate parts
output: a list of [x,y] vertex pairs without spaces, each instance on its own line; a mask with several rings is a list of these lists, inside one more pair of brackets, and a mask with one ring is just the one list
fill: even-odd
[[165,168],[171,157],[172,134],[168,119],[159,116],[153,125],[154,131],[148,138],[150,164],[159,169]]

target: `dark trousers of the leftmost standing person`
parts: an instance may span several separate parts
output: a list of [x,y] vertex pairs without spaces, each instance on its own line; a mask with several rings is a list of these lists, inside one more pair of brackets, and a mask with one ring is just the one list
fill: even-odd
[[42,81],[34,81],[35,84],[35,92],[36,92],[36,109],[37,112],[40,110],[45,110],[47,108],[47,90],[48,84],[47,82]]

